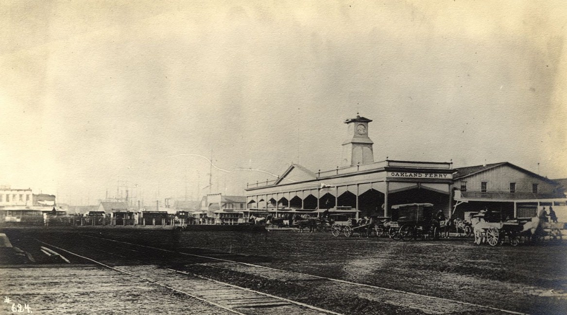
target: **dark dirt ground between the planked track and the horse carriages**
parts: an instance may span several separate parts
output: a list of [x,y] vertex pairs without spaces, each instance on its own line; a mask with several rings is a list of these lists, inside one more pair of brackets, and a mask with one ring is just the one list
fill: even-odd
[[[567,241],[473,245],[472,239],[394,241],[333,237],[294,231],[105,231],[82,235],[120,239],[193,254],[213,255],[284,270],[171,261],[176,267],[348,314],[489,314],[473,306],[431,301],[426,296],[530,314],[567,313]],[[79,248],[87,239],[68,234],[37,235]],[[83,242],[83,243],[81,243]],[[118,251],[119,249],[117,249]],[[146,256],[158,256],[148,252]],[[159,258],[159,257],[158,257]],[[169,258],[162,257],[162,264]],[[285,275],[285,271],[289,275]],[[299,279],[305,273],[424,295],[400,295],[347,284]],[[295,280],[295,281],[294,281]],[[303,280],[303,281],[299,281]],[[377,296],[379,298],[377,298]],[[455,305],[450,305],[455,304]]]

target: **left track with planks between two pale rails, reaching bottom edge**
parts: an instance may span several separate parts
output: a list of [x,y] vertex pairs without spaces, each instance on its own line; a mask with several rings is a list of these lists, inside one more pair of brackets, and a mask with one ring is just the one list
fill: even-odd
[[[94,239],[110,240],[110,239],[105,239],[105,238],[95,238],[95,237],[87,236],[87,235],[82,235],[82,236],[85,236],[85,237],[88,237],[88,238],[94,238]],[[37,239],[36,239],[36,240],[37,240]],[[229,312],[232,312],[232,313],[235,313],[235,314],[240,314],[240,315],[246,315],[246,313],[241,313],[241,312],[238,312],[237,310],[231,308],[231,307],[230,307],[230,303],[229,303],[229,306],[222,305],[221,303],[216,303],[215,301],[211,301],[211,299],[205,299],[205,298],[200,297],[200,296],[198,296],[198,295],[190,294],[189,292],[180,290],[179,288],[175,288],[175,287],[172,287],[172,286],[168,286],[167,284],[163,284],[163,283],[160,283],[160,282],[158,282],[158,281],[154,281],[153,279],[144,277],[144,276],[142,276],[142,275],[135,274],[135,273],[132,273],[132,272],[130,272],[130,271],[121,270],[121,269],[116,268],[116,267],[113,267],[113,266],[109,266],[109,265],[107,265],[107,264],[104,264],[103,262],[100,262],[100,261],[94,260],[94,259],[92,259],[92,258],[85,257],[85,256],[82,256],[82,255],[80,255],[80,254],[77,254],[77,253],[68,251],[67,249],[64,249],[64,248],[61,248],[61,247],[57,247],[56,245],[48,244],[48,243],[45,243],[44,241],[41,241],[41,240],[37,240],[37,241],[39,241],[39,242],[42,243],[42,244],[48,245],[48,246],[50,246],[50,247],[59,249],[60,251],[64,251],[64,252],[67,252],[67,253],[72,254],[72,255],[74,255],[74,256],[83,258],[83,259],[85,259],[85,260],[92,261],[92,262],[94,262],[95,264],[98,264],[98,265],[107,267],[107,268],[112,269],[112,270],[115,270],[115,271],[119,271],[120,273],[128,274],[128,275],[131,275],[131,276],[133,276],[133,277],[138,277],[138,278],[141,278],[141,279],[143,279],[143,280],[145,280],[145,281],[147,281],[147,282],[151,282],[151,283],[154,283],[154,284],[158,284],[159,286],[168,288],[169,290],[172,290],[172,291],[178,292],[178,293],[180,293],[180,294],[184,294],[184,295],[193,297],[194,299],[198,299],[198,300],[200,300],[200,301],[204,301],[204,302],[206,302],[206,303],[209,303],[209,304],[211,304],[211,305],[214,305],[215,307],[219,307],[219,308],[228,310]],[[125,242],[119,242],[119,243],[125,243]],[[125,243],[125,244],[129,244],[129,243]],[[136,245],[136,244],[133,244],[133,245]],[[142,247],[145,247],[145,246],[142,246]],[[107,252],[107,251],[101,251],[100,249],[95,249],[95,250],[96,250],[96,251],[99,251],[99,252],[107,253],[107,254],[112,254],[113,256],[119,256],[119,257],[129,258],[129,257],[123,256],[123,255],[117,254],[117,253],[112,253],[112,252]],[[129,249],[129,250],[130,250],[130,251],[134,251],[133,249]],[[129,259],[132,260],[132,258],[129,258]],[[152,265],[152,266],[155,266],[155,267],[163,268],[163,267],[160,267],[160,266],[158,266],[158,265],[151,264],[150,262],[147,262],[147,261],[141,261],[141,260],[138,260],[138,261],[139,261],[139,262],[142,262],[143,264],[146,264],[146,265]],[[172,268],[168,268],[168,267],[163,268],[163,269],[170,270],[170,271],[173,271],[173,272],[179,273],[179,274],[192,275],[193,277],[197,277],[197,278],[203,279],[203,280],[205,280],[205,281],[208,281],[208,282],[211,282],[211,283],[214,283],[214,284],[220,284],[221,286],[224,286],[224,287],[220,287],[220,288],[219,288],[219,287],[214,287],[214,286],[205,286],[205,287],[204,287],[204,286],[202,286],[202,284],[201,284],[201,286],[200,286],[199,289],[198,289],[198,290],[201,290],[201,291],[202,291],[202,290],[211,290],[214,295],[223,295],[223,294],[224,294],[224,295],[226,295],[226,294],[234,295],[234,294],[238,294],[238,292],[230,292],[230,291],[227,292],[227,291],[226,291],[227,289],[226,289],[225,287],[230,287],[230,288],[235,288],[236,290],[239,290],[239,291],[251,292],[253,295],[261,295],[261,296],[266,296],[266,297],[269,298],[269,300],[265,300],[265,298],[264,298],[264,300],[261,300],[261,299],[263,299],[262,297],[254,296],[254,297],[244,297],[244,298],[240,298],[240,299],[217,299],[217,300],[219,300],[219,301],[240,300],[240,303],[238,303],[238,301],[236,301],[236,302],[233,301],[233,302],[232,302],[232,307],[278,307],[278,306],[287,305],[287,304],[295,304],[295,305],[298,305],[299,307],[304,307],[304,308],[308,308],[308,309],[311,309],[311,310],[315,310],[317,313],[333,314],[333,315],[342,315],[341,313],[333,312],[332,310],[328,310],[328,309],[323,309],[323,308],[315,307],[314,305],[309,305],[309,304],[301,303],[301,302],[299,302],[299,301],[294,301],[294,300],[286,299],[285,297],[280,297],[280,296],[275,296],[275,295],[266,294],[265,292],[255,291],[255,290],[251,290],[251,289],[249,289],[249,288],[244,288],[244,287],[235,286],[234,284],[230,284],[230,283],[226,283],[226,282],[217,281],[217,280],[214,280],[214,279],[210,279],[210,278],[207,278],[207,277],[203,277],[203,276],[198,275],[198,274],[188,273],[187,271],[172,269]],[[219,292],[219,290],[221,290],[222,292]],[[280,301],[280,302],[278,302],[278,301]],[[282,304],[281,301],[284,301],[285,303]],[[236,305],[234,305],[234,304],[236,304]]]

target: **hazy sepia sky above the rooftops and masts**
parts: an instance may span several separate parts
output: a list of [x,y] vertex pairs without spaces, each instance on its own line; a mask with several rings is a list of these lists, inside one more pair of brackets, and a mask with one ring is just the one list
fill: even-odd
[[242,194],[340,165],[357,112],[375,161],[566,178],[566,24],[564,1],[3,1],[0,184],[196,199],[212,152]]

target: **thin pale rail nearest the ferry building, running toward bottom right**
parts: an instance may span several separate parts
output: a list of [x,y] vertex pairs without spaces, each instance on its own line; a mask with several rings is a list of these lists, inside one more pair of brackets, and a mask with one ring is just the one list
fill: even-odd
[[399,294],[411,295],[411,296],[416,296],[416,297],[424,297],[424,298],[427,298],[427,299],[433,299],[433,300],[438,300],[438,301],[445,301],[445,302],[450,302],[450,303],[456,303],[456,304],[461,304],[461,305],[467,305],[467,306],[471,306],[471,307],[477,307],[477,308],[484,308],[484,309],[489,309],[489,310],[495,310],[495,311],[498,311],[498,312],[503,312],[503,313],[508,313],[508,314],[529,315],[529,314],[527,314],[527,313],[515,312],[515,311],[513,311],[513,310],[501,309],[501,308],[496,308],[496,307],[490,307],[490,306],[488,306],[488,305],[481,305],[481,304],[469,303],[469,302],[465,302],[465,301],[447,299],[447,298],[445,298],[445,297],[437,297],[437,296],[430,296],[430,295],[417,294],[417,293],[413,293],[413,292],[408,292],[408,291],[403,291],[403,290],[397,290],[397,289],[392,289],[392,288],[379,287],[379,286],[374,286],[374,285],[365,284],[365,283],[358,283],[358,282],[346,281],[346,280],[342,280],[342,279],[329,278],[329,277],[321,277],[321,276],[319,276],[319,275],[312,275],[312,274],[306,274],[306,273],[298,273],[297,271],[289,271],[289,270],[284,270],[284,269],[277,269],[277,268],[274,268],[274,267],[268,267],[268,266],[263,266],[263,265],[251,264],[251,263],[249,263],[249,262],[240,262],[240,261],[234,261],[234,260],[227,260],[227,259],[225,259],[225,258],[210,257],[210,256],[204,256],[204,255],[198,255],[198,254],[190,254],[190,253],[184,253],[184,252],[176,252],[176,251],[171,251],[171,250],[169,250],[169,249],[164,249],[164,248],[152,247],[152,246],[141,245],[141,244],[134,244],[134,243],[126,242],[126,241],[119,241],[119,240],[113,240],[113,239],[107,239],[107,238],[100,238],[100,237],[90,236],[90,235],[82,235],[82,236],[84,236],[84,237],[86,237],[86,238],[101,239],[101,240],[112,241],[112,242],[115,242],[115,243],[122,243],[122,244],[134,245],[134,246],[138,246],[138,247],[151,248],[151,249],[156,249],[156,250],[158,250],[158,251],[163,251],[163,252],[170,252],[170,253],[182,254],[182,255],[185,255],[185,256],[200,257],[200,258],[206,258],[206,259],[210,259],[210,260],[223,261],[223,262],[230,262],[230,263],[233,263],[233,264],[240,264],[240,265],[245,265],[245,266],[251,266],[251,267],[269,269],[269,270],[274,270],[274,271],[280,271],[280,272],[285,272],[285,273],[288,273],[288,274],[289,274],[289,273],[294,273],[294,274],[297,274],[297,275],[302,275],[302,276],[304,276],[304,277],[312,277],[312,278],[318,278],[318,279],[325,279],[325,280],[332,281],[332,282],[337,282],[337,283],[346,283],[346,284],[350,284],[350,285],[354,285],[354,286],[359,286],[359,287],[368,287],[368,288],[374,288],[374,289],[383,290],[383,291],[388,291],[388,292],[396,292],[396,293],[399,293]]

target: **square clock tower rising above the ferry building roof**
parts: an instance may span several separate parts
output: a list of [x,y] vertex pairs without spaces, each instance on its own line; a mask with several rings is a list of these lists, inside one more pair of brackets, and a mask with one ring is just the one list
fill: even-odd
[[372,120],[361,117],[346,119],[346,140],[342,144],[342,165],[354,166],[374,163],[372,140],[368,137],[368,123]]

